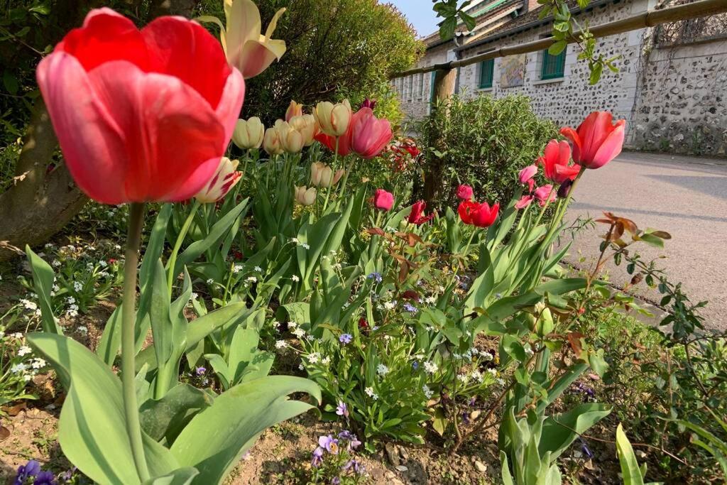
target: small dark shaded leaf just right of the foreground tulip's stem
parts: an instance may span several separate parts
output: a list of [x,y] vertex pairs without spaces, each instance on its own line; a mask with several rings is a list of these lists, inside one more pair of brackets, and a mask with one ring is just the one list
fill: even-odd
[[142,429],[156,441],[166,439],[167,444],[182,432],[195,414],[212,406],[212,396],[192,387],[180,384],[169,390],[163,398],[149,399],[139,409]]

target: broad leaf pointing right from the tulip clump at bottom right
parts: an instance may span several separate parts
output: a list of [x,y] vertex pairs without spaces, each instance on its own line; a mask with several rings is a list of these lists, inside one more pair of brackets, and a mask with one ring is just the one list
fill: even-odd
[[610,412],[610,406],[606,404],[585,403],[579,404],[569,412],[547,417],[543,422],[538,445],[540,454],[550,452],[551,459],[555,460],[571,446],[579,435],[608,416]]

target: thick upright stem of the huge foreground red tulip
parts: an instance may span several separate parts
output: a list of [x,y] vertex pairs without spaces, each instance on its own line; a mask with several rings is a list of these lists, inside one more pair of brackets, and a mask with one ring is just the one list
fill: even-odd
[[134,465],[136,465],[137,473],[142,482],[147,481],[150,476],[146,458],[144,457],[134,378],[136,376],[134,329],[136,326],[137,266],[139,265],[139,247],[143,225],[144,204],[133,202],[129,216],[129,234],[126,238],[124,299],[121,305],[121,388],[124,396],[126,433],[129,435]]

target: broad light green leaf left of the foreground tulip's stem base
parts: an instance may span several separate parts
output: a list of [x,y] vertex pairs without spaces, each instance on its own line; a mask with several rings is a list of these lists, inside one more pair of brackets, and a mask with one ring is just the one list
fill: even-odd
[[[63,454],[101,484],[138,484],[126,435],[121,381],[94,353],[75,340],[55,334],[28,334],[28,342],[71,382],[58,422]],[[152,476],[179,468],[169,450],[142,433]]]

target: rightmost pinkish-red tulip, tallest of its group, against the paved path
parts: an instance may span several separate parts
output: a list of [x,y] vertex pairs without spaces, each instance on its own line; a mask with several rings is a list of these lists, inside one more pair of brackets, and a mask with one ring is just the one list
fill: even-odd
[[577,130],[561,128],[561,135],[573,143],[573,161],[587,169],[598,169],[621,153],[626,121],[619,119],[613,124],[612,120],[611,113],[594,111]]

